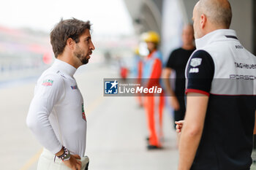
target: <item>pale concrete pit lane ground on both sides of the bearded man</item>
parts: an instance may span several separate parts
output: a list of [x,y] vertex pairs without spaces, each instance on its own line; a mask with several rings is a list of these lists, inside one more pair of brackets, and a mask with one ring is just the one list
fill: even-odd
[[[88,121],[86,155],[94,170],[177,169],[176,133],[164,115],[164,149],[146,150],[146,117],[134,97],[103,97],[103,78],[117,77],[105,66],[84,66],[75,74]],[[0,163],[4,170],[35,170],[42,146],[26,127],[34,82],[0,89]]]

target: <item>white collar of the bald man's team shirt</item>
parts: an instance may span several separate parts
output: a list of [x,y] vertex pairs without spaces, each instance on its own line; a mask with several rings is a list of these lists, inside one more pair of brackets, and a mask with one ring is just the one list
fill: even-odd
[[211,42],[217,42],[227,38],[237,39],[236,31],[232,29],[217,29],[211,33],[206,34],[200,39],[195,39],[195,46],[197,49],[201,49],[206,45],[211,44]]

